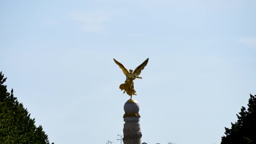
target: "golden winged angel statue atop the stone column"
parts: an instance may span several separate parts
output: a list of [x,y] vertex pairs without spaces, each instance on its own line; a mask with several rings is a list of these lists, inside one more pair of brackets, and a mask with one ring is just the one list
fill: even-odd
[[136,95],[136,91],[134,90],[134,87],[133,87],[133,80],[135,80],[136,78],[142,79],[142,77],[139,77],[139,75],[141,74],[141,70],[143,70],[144,67],[147,65],[149,58],[147,58],[141,65],[136,67],[136,69],[134,69],[134,71],[132,69],[130,69],[128,71],[123,64],[121,64],[120,62],[118,62],[115,59],[114,59],[114,61],[123,70],[123,73],[126,76],[125,83],[121,84],[119,86],[119,88],[121,89],[121,91],[124,90],[123,93],[125,93],[125,91],[126,91],[126,93],[129,96],[131,96],[131,98],[132,98],[132,95]]

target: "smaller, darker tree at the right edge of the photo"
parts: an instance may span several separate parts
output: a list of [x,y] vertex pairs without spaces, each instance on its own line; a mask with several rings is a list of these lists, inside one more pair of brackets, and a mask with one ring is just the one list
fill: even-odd
[[248,109],[242,107],[237,118],[231,128],[225,127],[226,136],[221,137],[221,144],[256,144],[256,95],[250,94]]

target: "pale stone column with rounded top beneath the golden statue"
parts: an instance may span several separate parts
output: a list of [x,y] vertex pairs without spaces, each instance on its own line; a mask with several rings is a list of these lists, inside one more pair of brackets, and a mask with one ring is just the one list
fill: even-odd
[[123,143],[141,144],[141,127],[139,124],[139,104],[133,99],[129,99],[124,105],[125,114],[123,120]]

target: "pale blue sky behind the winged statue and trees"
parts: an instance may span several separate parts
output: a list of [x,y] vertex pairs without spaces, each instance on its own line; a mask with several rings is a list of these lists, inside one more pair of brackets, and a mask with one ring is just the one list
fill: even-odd
[[256,94],[255,0],[2,0],[0,71],[55,144],[120,143],[125,75],[141,142],[220,143]]

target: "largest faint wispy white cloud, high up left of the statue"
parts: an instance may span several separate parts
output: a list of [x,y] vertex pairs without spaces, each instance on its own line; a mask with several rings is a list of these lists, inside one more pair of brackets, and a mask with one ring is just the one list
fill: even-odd
[[104,24],[110,20],[110,16],[101,12],[71,13],[71,16],[75,21],[82,22],[82,29],[84,31],[101,34],[106,30],[106,26]]

